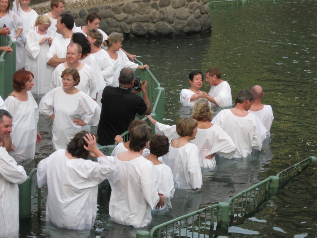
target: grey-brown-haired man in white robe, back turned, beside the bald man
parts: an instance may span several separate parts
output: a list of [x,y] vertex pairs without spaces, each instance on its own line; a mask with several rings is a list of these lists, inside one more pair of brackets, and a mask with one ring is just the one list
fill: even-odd
[[[211,123],[222,128],[236,144],[236,153],[233,158],[245,158],[252,152],[252,148],[261,150],[265,139],[260,131],[260,120],[248,112],[254,100],[248,89],[242,89],[236,96],[236,106],[232,109],[221,110]],[[262,123],[261,123],[262,124]]]

